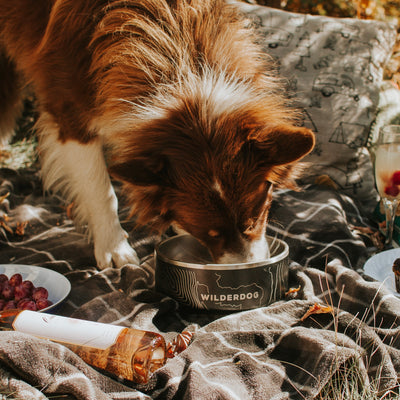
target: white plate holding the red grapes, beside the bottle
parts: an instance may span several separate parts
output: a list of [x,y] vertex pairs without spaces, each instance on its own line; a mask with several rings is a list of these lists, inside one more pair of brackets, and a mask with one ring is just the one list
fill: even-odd
[[35,267],[32,265],[21,264],[0,264],[0,274],[5,274],[10,278],[14,274],[21,274],[22,279],[30,280],[35,287],[43,286],[49,292],[49,300],[53,303],[51,306],[41,311],[49,311],[61,303],[71,290],[69,280],[51,269]]

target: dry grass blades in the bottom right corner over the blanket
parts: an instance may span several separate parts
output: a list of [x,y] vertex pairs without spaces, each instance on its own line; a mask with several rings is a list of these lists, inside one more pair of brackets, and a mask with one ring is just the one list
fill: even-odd
[[[376,321],[374,307],[378,291],[375,294],[375,298],[372,299],[370,306],[365,309],[361,318],[358,318],[357,315],[351,316],[351,320],[349,320],[347,324],[343,324],[343,321],[347,318],[344,314],[345,312],[340,308],[344,287],[339,295],[337,305],[335,305],[328,280],[329,278],[327,273],[325,275],[325,285],[320,278],[321,293],[327,294],[323,296],[321,303],[317,304],[324,309],[324,311],[321,311],[322,313],[327,315],[330,314],[332,316],[336,354],[334,358],[335,361],[331,365],[331,375],[329,380],[323,385],[320,377],[314,376],[299,365],[291,363],[287,364],[291,367],[298,368],[299,371],[308,374],[314,380],[317,387],[319,387],[319,393],[312,398],[313,400],[399,400],[400,383],[398,382],[398,379],[396,385],[393,387],[382,389],[384,382],[385,380],[387,381],[388,377],[385,377],[384,375],[384,366],[382,364],[377,364],[378,360],[374,360],[376,356],[383,356],[385,351],[380,352],[380,355],[377,353],[381,350],[380,346],[385,346],[385,344],[374,343],[368,333],[366,333],[366,337],[363,337],[364,332],[361,330],[364,324],[366,324],[367,319]],[[319,314],[321,312],[316,313]],[[341,314],[342,319],[339,321],[339,316]],[[303,318],[305,318],[306,315]],[[320,324],[312,314],[305,319],[307,318],[312,319],[314,324],[316,324],[320,329],[326,329],[326,326]],[[370,327],[376,328],[375,324]],[[397,329],[397,325],[393,323],[391,329]],[[343,345],[341,344],[341,337],[343,337],[341,336],[342,333],[346,336]],[[368,337],[369,339],[366,341]],[[351,348],[359,347],[360,352],[343,362],[341,349],[343,347],[349,348],[349,339],[352,339],[354,342]],[[310,400],[309,397],[305,397],[300,392],[297,386],[293,386],[293,388],[297,391],[300,398]]]

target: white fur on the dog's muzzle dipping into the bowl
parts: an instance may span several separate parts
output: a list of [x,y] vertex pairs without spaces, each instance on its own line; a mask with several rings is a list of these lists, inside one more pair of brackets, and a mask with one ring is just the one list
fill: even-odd
[[268,241],[265,235],[258,240],[245,241],[241,253],[224,253],[217,261],[219,264],[236,264],[263,261],[270,257]]

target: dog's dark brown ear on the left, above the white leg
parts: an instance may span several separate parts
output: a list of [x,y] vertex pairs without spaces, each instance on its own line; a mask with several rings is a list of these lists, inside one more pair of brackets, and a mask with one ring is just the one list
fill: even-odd
[[136,157],[119,164],[112,164],[109,173],[117,180],[137,186],[165,186],[167,160],[164,157]]

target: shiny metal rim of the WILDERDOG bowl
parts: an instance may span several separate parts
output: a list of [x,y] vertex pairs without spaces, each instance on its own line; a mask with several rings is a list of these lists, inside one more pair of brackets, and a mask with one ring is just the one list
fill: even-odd
[[289,256],[289,245],[281,239],[274,238],[272,236],[267,236],[274,241],[280,242],[283,245],[283,251],[273,256],[271,258],[267,258],[263,261],[253,261],[247,263],[237,263],[237,264],[198,264],[198,263],[188,263],[184,261],[174,260],[172,258],[167,257],[162,252],[160,252],[160,247],[164,244],[169,242],[170,240],[177,240],[179,237],[183,236],[190,236],[188,234],[176,235],[172,236],[168,239],[163,240],[162,242],[158,243],[155,247],[155,256],[156,258],[161,259],[162,261],[168,263],[170,266],[177,266],[183,268],[194,268],[194,269],[202,269],[202,270],[224,270],[224,271],[234,271],[238,269],[249,269],[249,268],[259,268],[259,267],[268,267],[272,264],[276,264],[279,261],[284,260]]

